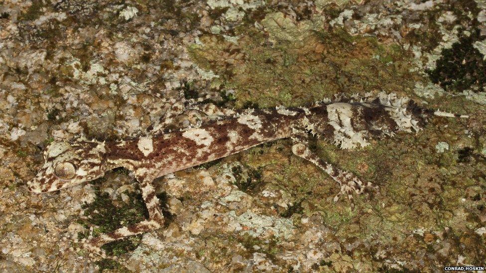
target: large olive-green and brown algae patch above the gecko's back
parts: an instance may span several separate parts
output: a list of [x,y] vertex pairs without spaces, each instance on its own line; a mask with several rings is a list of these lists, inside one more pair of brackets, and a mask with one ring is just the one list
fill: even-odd
[[201,69],[220,77],[213,80],[219,88],[236,91],[237,107],[297,106],[339,92],[413,94],[423,80],[410,72],[412,56],[400,46],[328,30],[318,22],[295,23],[280,12],[269,13],[260,28],[237,29],[238,44],[205,34],[189,52]]

